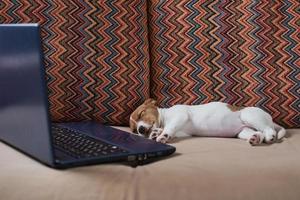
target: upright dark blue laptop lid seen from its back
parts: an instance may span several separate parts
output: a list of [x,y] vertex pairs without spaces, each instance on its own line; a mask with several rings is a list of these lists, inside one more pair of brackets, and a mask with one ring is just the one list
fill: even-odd
[[0,24],[0,139],[53,163],[40,29]]

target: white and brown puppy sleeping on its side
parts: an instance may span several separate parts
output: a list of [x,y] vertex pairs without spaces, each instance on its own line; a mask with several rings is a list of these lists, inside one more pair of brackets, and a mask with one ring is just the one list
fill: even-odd
[[130,115],[130,128],[140,136],[166,143],[173,137],[238,137],[251,145],[273,143],[284,137],[283,127],[257,107],[221,102],[158,108],[147,99]]

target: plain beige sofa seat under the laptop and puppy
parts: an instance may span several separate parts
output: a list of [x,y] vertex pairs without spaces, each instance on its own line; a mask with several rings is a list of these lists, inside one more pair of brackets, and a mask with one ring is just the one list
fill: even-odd
[[300,129],[288,133],[282,143],[258,147],[239,139],[188,138],[173,143],[173,156],[137,168],[55,170],[0,143],[0,199],[299,200]]

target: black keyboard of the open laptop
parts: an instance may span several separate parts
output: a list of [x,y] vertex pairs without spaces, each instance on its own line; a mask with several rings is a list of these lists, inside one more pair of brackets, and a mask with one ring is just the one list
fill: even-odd
[[69,155],[75,158],[89,158],[108,156],[111,154],[128,153],[125,149],[118,146],[96,140],[80,132],[52,126],[52,136],[54,146],[63,149]]

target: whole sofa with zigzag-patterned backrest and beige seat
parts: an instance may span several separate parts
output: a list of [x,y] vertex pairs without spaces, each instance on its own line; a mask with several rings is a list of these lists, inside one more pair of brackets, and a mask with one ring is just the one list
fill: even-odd
[[[257,106],[287,129],[270,145],[181,138],[142,166],[48,168],[0,143],[0,199],[299,199],[300,3],[3,0],[0,23],[39,23],[51,120],[130,132],[160,107]],[[1,98],[1,97],[0,97]],[[1,110],[0,110],[1,112]]]

